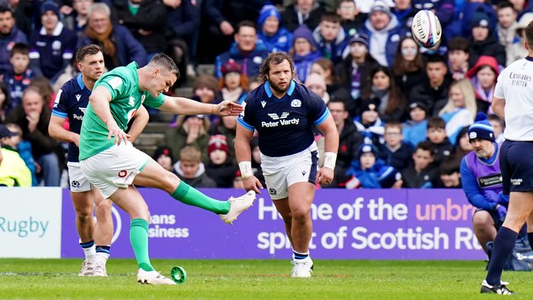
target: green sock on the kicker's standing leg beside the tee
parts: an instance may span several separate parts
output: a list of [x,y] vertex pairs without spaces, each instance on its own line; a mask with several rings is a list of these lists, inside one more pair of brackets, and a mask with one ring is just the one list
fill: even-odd
[[130,242],[139,268],[154,271],[148,256],[148,222],[145,219],[131,220]]

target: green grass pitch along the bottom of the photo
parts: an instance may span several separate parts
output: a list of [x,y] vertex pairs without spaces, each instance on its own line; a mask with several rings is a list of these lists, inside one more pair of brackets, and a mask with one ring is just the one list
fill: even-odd
[[[139,285],[134,260],[111,259],[108,278],[76,276],[81,260],[0,259],[0,299],[495,299],[479,294],[481,261],[316,260],[311,279],[289,278],[289,260],[153,260],[187,281]],[[513,299],[533,298],[532,272],[505,272]]]

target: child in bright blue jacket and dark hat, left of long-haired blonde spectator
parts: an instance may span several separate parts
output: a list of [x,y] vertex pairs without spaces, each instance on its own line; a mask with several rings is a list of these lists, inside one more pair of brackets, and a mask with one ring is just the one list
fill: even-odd
[[414,146],[428,138],[428,107],[422,102],[411,103],[409,117],[403,124],[403,140]]

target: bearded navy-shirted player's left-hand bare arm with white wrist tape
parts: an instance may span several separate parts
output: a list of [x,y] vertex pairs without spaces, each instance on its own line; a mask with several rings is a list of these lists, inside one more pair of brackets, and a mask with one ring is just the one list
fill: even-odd
[[257,194],[261,194],[259,189],[263,186],[259,179],[257,179],[252,173],[251,163],[251,149],[250,140],[252,139],[253,131],[249,131],[243,126],[237,124],[237,135],[235,137],[235,155],[237,156],[237,163],[239,163],[239,169],[241,170],[242,182],[244,189],[249,191],[253,190]]

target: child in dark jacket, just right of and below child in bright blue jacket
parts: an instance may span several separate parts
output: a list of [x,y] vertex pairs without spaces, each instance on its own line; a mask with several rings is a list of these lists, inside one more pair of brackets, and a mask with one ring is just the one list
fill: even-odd
[[433,146],[433,165],[439,167],[441,162],[452,154],[453,146],[446,137],[446,123],[439,117],[428,120],[428,142]]

